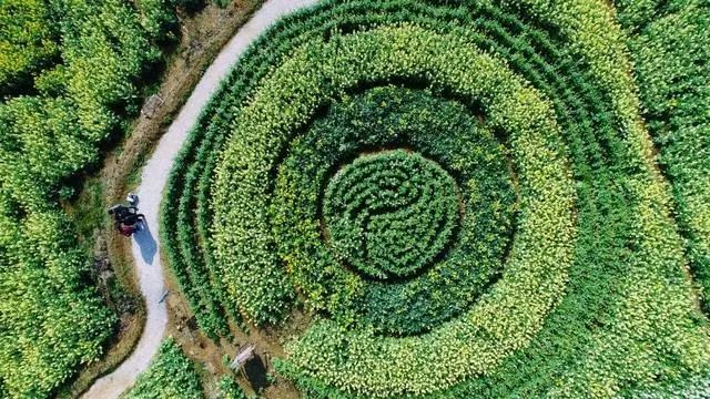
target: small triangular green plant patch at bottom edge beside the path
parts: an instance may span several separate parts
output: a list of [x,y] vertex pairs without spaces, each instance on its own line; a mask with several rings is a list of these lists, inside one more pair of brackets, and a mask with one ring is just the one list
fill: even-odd
[[124,399],[201,399],[202,385],[194,364],[185,357],[172,338],[164,340],[148,370]]

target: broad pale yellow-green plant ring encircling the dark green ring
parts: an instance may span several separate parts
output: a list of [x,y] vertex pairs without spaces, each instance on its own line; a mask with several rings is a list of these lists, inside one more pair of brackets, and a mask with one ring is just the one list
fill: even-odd
[[[274,256],[271,223],[263,211],[270,204],[270,171],[292,132],[323,99],[361,82],[403,75],[427,79],[435,88],[483,104],[493,129],[509,134],[519,174],[520,216],[503,277],[454,321],[429,335],[405,338],[357,329],[338,334],[336,326],[323,323],[290,346],[292,361],[303,372],[375,396],[435,391],[443,381],[483,372],[525,346],[564,291],[574,247],[571,173],[547,103],[503,63],[460,37],[416,25],[384,27],[302,47],[261,83],[235,120],[233,134],[240,140],[226,143],[216,170],[214,242],[227,289],[243,311],[255,318],[287,305],[280,286],[288,284],[287,276]],[[265,270],[278,276],[275,284],[262,283],[265,289],[241,284],[239,276]],[[302,283],[297,275],[294,283]],[[357,290],[348,282],[335,284],[338,295]],[[322,329],[335,339],[324,341]],[[352,355],[346,358],[343,341]],[[445,361],[453,357],[457,361]]]

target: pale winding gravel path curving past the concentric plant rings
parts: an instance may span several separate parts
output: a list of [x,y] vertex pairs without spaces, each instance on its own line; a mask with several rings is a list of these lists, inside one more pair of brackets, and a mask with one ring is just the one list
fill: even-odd
[[284,14],[315,2],[317,0],[267,0],[222,49],[158,143],[155,152],[143,168],[141,185],[136,191],[140,197],[139,207],[141,213],[145,214],[149,228],[134,236],[132,247],[135,267],[140,274],[141,291],[145,299],[146,320],[143,335],[133,354],[113,372],[98,379],[82,398],[118,398],[125,389],[132,387],[138,375],[145,370],[163,339],[168,309],[164,303],[158,303],[165,290],[158,244],[160,203],[173,161],[187,139],[187,133],[196,124],[202,108],[255,39]]

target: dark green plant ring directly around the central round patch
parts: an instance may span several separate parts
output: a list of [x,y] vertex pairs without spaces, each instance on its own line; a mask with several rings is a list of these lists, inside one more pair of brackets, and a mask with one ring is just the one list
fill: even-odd
[[[375,88],[334,101],[288,145],[273,195],[273,228],[280,256],[312,307],[345,325],[420,334],[467,309],[500,273],[515,194],[503,145],[469,113],[422,90]],[[331,171],[363,149],[395,147],[416,149],[455,176],[465,216],[445,257],[414,278],[384,284],[333,259],[320,229],[318,198]]]

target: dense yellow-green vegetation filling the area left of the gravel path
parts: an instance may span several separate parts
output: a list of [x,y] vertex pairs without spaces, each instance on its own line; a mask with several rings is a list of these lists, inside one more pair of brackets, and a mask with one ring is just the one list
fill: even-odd
[[58,200],[136,114],[174,21],[163,0],[0,2],[0,397],[47,397],[114,331]]

